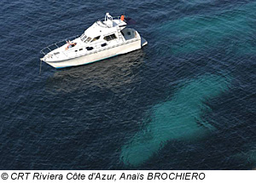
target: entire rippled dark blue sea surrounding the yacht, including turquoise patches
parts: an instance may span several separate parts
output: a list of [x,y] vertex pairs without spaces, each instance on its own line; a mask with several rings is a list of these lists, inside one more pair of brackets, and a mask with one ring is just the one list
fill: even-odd
[[[0,169],[254,169],[256,2],[0,2]],[[56,71],[39,51],[125,12],[148,45]]]

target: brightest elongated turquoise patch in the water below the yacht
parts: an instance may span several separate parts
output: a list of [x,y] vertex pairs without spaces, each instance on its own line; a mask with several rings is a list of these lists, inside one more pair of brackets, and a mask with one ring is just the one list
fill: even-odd
[[230,79],[207,75],[190,80],[177,89],[171,100],[155,105],[143,123],[145,128],[122,147],[125,165],[137,166],[165,146],[168,140],[197,140],[214,127],[201,116],[210,109],[204,101],[226,91]]

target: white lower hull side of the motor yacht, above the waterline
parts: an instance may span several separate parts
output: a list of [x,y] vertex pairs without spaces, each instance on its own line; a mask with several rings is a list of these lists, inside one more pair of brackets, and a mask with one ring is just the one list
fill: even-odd
[[90,54],[79,55],[73,59],[68,60],[55,60],[55,61],[45,61],[50,66],[53,66],[57,69],[61,69],[69,66],[80,66],[90,64],[96,61],[105,60],[119,54],[126,54],[131,51],[141,49],[147,42],[143,37],[139,37],[135,40],[129,40],[126,43],[116,45],[113,48],[106,47],[102,50],[91,51]]

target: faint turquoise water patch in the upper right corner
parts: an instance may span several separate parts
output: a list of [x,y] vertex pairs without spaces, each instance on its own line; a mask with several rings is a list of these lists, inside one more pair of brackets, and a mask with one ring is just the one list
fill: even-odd
[[[160,39],[168,40],[167,53],[190,54],[201,49],[227,45],[237,54],[255,54],[256,3],[247,3],[232,9],[221,9],[208,14],[194,14],[169,20],[157,29]],[[232,42],[230,42],[232,40]],[[166,49],[160,49],[166,54]]]

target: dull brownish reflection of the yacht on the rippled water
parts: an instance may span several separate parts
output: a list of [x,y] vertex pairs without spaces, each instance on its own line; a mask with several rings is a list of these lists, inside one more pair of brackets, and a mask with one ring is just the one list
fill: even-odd
[[143,50],[122,54],[85,66],[75,66],[55,71],[46,81],[49,93],[70,93],[77,89],[98,87],[115,91],[139,79],[138,67],[144,62]]

